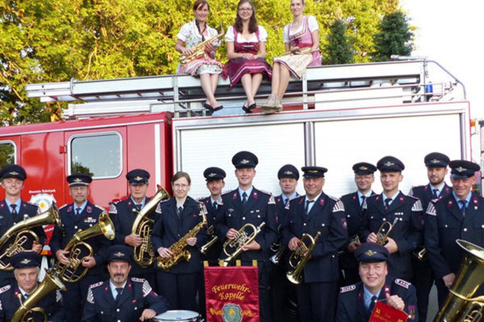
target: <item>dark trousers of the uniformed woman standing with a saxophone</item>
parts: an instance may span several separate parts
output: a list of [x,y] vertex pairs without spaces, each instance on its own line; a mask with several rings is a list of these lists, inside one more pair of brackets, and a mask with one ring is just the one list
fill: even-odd
[[198,312],[196,292],[200,273],[170,273],[157,271],[158,291],[169,303],[170,310]]

